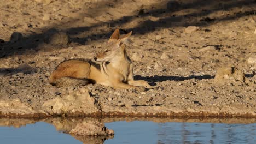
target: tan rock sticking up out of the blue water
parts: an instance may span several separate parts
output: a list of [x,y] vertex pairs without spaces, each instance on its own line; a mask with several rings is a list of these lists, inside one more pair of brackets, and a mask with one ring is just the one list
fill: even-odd
[[83,123],[78,123],[77,126],[68,133],[81,136],[114,135],[114,130],[106,128],[102,122],[84,121]]

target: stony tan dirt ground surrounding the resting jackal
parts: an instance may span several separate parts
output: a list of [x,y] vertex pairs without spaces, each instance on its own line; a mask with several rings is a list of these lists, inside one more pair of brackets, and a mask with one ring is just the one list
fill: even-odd
[[[0,13],[0,100],[39,107],[75,91],[51,86],[50,73],[66,59],[93,58],[119,28],[133,31],[135,78],[154,89],[85,86],[99,104],[256,113],[254,0],[18,0],[0,3]],[[245,80],[214,81],[221,67]]]

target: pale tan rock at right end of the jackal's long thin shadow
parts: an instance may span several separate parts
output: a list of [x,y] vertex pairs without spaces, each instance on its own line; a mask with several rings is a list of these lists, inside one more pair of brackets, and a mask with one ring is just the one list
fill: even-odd
[[245,74],[242,70],[238,70],[234,67],[223,67],[218,69],[216,76],[214,77],[214,83],[226,83],[227,80],[245,81]]

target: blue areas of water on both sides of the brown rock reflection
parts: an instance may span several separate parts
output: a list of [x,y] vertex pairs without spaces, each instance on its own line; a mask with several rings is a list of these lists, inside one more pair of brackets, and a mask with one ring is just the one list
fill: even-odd
[[[104,143],[256,143],[256,123],[111,122],[113,139]],[[82,143],[45,122],[0,127],[0,143]]]

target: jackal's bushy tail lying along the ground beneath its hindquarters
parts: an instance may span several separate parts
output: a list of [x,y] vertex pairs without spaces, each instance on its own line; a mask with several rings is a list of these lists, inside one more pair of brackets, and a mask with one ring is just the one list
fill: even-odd
[[60,79],[57,79],[55,82],[51,82],[52,85],[55,85],[56,87],[68,87],[68,86],[84,86],[90,83],[96,83],[95,80],[83,78],[73,78],[73,77],[61,77]]

